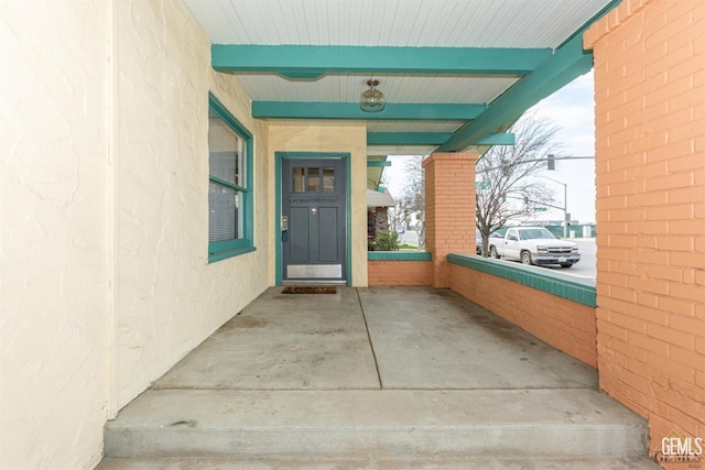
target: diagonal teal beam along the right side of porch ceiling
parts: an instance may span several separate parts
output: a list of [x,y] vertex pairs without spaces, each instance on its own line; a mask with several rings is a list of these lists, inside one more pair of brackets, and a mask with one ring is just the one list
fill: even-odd
[[543,98],[563,88],[593,68],[593,54],[583,50],[583,35],[576,35],[536,70],[514,84],[490,103],[473,122],[457,130],[438,152],[459,152],[513,122]]

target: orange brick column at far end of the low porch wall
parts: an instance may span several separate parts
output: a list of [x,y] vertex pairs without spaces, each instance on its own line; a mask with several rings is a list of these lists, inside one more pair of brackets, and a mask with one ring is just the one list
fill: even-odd
[[434,153],[423,162],[431,282],[448,287],[449,253],[475,253],[475,153]]

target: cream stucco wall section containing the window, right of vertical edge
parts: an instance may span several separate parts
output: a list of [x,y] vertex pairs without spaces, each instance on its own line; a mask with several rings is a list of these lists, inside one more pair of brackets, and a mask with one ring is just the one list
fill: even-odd
[[[208,91],[256,136],[254,214],[268,214],[265,129],[181,2],[117,2],[117,401],[142,392],[269,285],[257,251],[207,263]],[[257,217],[257,216],[256,216]]]

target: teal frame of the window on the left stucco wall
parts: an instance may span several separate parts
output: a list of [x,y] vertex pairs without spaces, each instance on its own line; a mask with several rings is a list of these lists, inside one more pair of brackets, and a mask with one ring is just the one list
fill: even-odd
[[242,238],[235,240],[224,240],[217,242],[208,242],[208,262],[225,260],[227,258],[237,256],[239,254],[249,253],[254,248],[254,187],[253,187],[253,152],[254,143],[252,133],[242,123],[228,111],[228,109],[215,97],[208,92],[208,110],[216,114],[225,122],[235,133],[243,141],[246,146],[245,161],[245,187],[235,185],[216,176],[209,176],[208,179],[218,184],[231,187],[242,193]]

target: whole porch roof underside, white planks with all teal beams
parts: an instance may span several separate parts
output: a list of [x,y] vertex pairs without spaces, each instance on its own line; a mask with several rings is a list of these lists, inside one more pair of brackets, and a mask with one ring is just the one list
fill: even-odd
[[[274,11],[272,24],[260,24],[259,13],[249,6],[235,9],[232,2],[224,2],[218,10],[227,18],[224,21],[216,18],[216,9],[195,0],[186,4],[212,37],[213,68],[237,75],[251,96],[252,117],[364,121],[368,145],[380,147],[371,153],[380,154],[419,149],[481,153],[491,145],[513,144],[510,135],[502,134],[511,123],[590,70],[593,55],[583,50],[582,34],[619,1],[578,6],[541,0],[535,11],[523,12],[525,22],[516,18],[516,10],[501,6],[469,14],[466,9],[471,7],[448,4],[436,9],[446,15],[426,11],[425,24],[413,37],[398,28],[404,15],[387,8],[392,2],[381,2],[376,4],[378,14],[369,19],[368,34],[376,41],[362,37],[354,26],[358,22],[352,19],[365,24],[370,14],[361,6],[322,12],[305,4],[302,11],[281,15]],[[419,2],[419,8],[425,7]],[[295,21],[299,15],[304,23]],[[443,31],[432,32],[436,22],[438,29],[446,28],[451,17],[463,18],[465,30],[486,33],[466,40],[462,36],[471,35],[466,31],[458,30],[460,37],[443,39]],[[516,28],[510,26],[514,22]],[[357,102],[371,76],[387,96],[380,112],[365,112]],[[404,123],[411,127],[401,132]]]

